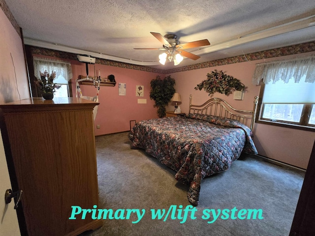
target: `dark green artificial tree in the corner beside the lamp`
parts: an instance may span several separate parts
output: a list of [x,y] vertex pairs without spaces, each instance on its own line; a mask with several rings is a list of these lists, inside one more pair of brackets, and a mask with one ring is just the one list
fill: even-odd
[[158,117],[162,118],[166,116],[165,106],[170,102],[175,93],[175,80],[171,76],[166,76],[161,79],[157,76],[150,82],[150,99],[155,101],[154,107],[158,108]]

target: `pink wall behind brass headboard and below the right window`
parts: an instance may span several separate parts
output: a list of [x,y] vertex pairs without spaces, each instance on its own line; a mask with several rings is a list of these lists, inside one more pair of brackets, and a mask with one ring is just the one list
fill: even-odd
[[[308,54],[301,54],[303,57]],[[277,58],[289,59],[296,58],[296,55]],[[269,59],[275,60],[275,59]],[[266,60],[257,60],[251,62],[240,62],[217,67],[209,67],[192,71],[178,72],[171,76],[176,80],[176,90],[181,94],[182,103],[180,104],[183,112],[189,110],[189,94],[192,94],[193,104],[201,104],[209,99],[208,93],[204,90],[195,90],[197,84],[207,79],[207,73],[214,69],[222,70],[226,74],[239,79],[246,87],[244,100],[233,100],[233,94],[226,96],[221,93],[215,93],[212,97],[220,97],[232,106],[238,109],[251,110],[254,96],[259,95],[260,86],[252,85],[252,74],[256,63]],[[172,110],[173,107],[168,108]],[[303,131],[297,129],[283,128],[278,126],[258,124],[253,128],[254,143],[258,154],[294,165],[300,168],[307,168],[312,147],[315,140],[315,132]]]

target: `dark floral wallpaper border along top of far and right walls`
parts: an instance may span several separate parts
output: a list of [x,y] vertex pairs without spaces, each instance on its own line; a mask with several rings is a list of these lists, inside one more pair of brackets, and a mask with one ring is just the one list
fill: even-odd
[[[71,59],[71,60],[77,59],[76,54],[73,54],[73,53],[66,53],[66,52],[61,52],[61,51],[56,51],[56,50],[51,50],[51,49],[46,49],[46,48],[39,48],[39,47],[34,47],[34,46],[28,46],[28,45],[25,45],[25,46],[30,47],[32,54],[50,56],[50,57],[56,57],[56,58],[62,58],[62,59]],[[308,52],[315,52],[315,41],[291,45],[291,46],[282,47],[282,48],[271,49],[271,50],[265,50],[265,51],[261,51],[257,53],[240,55],[236,57],[207,61],[207,62],[202,62],[198,64],[177,67],[177,68],[169,69],[169,70],[162,70],[162,69],[156,69],[156,68],[147,67],[147,66],[134,65],[134,64],[128,64],[125,62],[118,62],[118,61],[113,61],[113,60],[97,59],[97,58],[96,58],[95,63],[102,64],[102,65],[122,67],[122,68],[132,69],[132,70],[141,70],[141,71],[154,72],[154,73],[160,73],[160,74],[172,74],[176,72],[197,70],[197,69],[214,67],[214,66],[219,66],[219,65],[227,65],[227,64],[259,60],[259,59],[267,59],[267,58],[276,58],[276,57],[282,57],[282,56],[288,56],[288,55],[294,55],[294,54],[300,54],[300,53],[308,53]]]

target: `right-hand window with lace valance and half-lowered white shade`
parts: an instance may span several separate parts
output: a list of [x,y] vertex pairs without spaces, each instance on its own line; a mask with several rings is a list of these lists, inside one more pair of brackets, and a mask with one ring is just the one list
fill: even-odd
[[315,57],[257,65],[260,80],[258,122],[315,128]]

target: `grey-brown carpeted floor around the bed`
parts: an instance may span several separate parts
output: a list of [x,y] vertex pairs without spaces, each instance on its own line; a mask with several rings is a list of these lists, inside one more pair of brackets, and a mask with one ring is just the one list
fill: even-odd
[[[303,171],[242,155],[229,170],[203,179],[199,205],[192,208],[188,186],[178,183],[175,172],[154,157],[131,149],[127,134],[96,137],[97,208],[113,209],[120,219],[106,219],[101,228],[81,236],[288,236]],[[165,209],[165,217],[169,208],[173,211],[166,220],[153,219],[158,209]],[[136,213],[122,219],[126,209],[145,213],[135,223]]]

